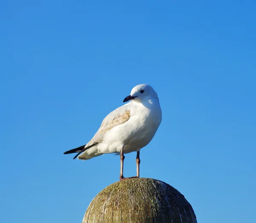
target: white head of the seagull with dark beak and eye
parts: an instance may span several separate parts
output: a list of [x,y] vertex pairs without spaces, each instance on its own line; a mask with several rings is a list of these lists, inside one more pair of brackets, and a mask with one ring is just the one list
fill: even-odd
[[150,99],[157,99],[157,92],[154,91],[154,89],[148,85],[148,84],[140,84],[135,86],[131,90],[131,94],[123,100],[123,102],[127,102],[129,100],[134,100],[141,102],[143,100],[150,100]]

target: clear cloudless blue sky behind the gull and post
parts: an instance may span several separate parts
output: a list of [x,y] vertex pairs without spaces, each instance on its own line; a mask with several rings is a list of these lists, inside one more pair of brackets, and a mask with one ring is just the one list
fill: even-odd
[[1,221],[81,222],[119,180],[119,157],[63,152],[148,83],[163,120],[141,150],[141,177],[178,189],[200,223],[253,222],[255,10],[236,0],[1,1]]

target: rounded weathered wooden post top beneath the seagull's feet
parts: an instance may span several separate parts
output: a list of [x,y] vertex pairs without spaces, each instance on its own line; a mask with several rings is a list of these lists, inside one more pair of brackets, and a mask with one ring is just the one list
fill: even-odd
[[132,178],[99,192],[82,223],[197,223],[192,206],[160,180]]

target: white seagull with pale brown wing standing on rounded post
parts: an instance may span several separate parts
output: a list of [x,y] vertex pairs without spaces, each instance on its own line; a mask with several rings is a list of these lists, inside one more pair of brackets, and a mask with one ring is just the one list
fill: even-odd
[[[129,102],[128,102],[129,101]],[[140,177],[140,149],[153,139],[162,121],[162,110],[157,92],[148,85],[140,84],[123,100],[128,102],[108,114],[93,138],[83,146],[64,154],[78,153],[74,157],[89,160],[106,153],[120,154],[120,180],[123,176],[124,154],[137,152],[137,176]]]

